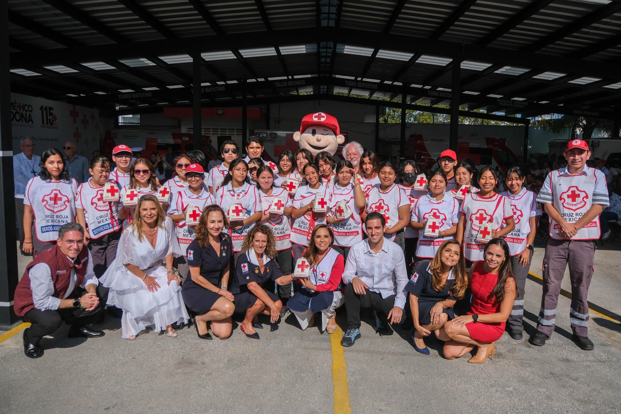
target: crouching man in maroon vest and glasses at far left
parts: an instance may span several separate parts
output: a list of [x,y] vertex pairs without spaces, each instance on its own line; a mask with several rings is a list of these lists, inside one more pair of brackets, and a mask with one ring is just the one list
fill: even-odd
[[86,328],[106,303],[97,297],[97,285],[84,229],[78,223],[65,224],[58,230],[56,246],[30,262],[15,290],[15,313],[32,324],[24,330],[24,354],[42,357],[41,338],[60,328],[63,320],[71,325],[70,338],[104,336],[103,331]]

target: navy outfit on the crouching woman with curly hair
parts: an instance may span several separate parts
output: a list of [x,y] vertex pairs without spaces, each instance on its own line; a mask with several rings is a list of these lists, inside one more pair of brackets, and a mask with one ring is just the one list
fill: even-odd
[[[283,272],[281,272],[276,260],[271,259],[267,262],[263,268],[263,273],[261,273],[260,267],[250,263],[250,261],[248,261],[248,256],[245,252],[243,252],[237,259],[237,268],[235,270],[235,277],[237,279],[236,283],[238,283],[239,286],[239,293],[231,292],[235,295],[235,302],[233,302],[235,303],[235,312],[245,313],[248,308],[252,308],[252,305],[254,305],[256,300],[258,300],[255,294],[250,292],[250,289],[248,289],[248,283],[250,282],[256,282],[274,302],[280,300],[276,295],[274,295],[273,283],[270,283],[270,281],[276,280],[282,276]],[[265,289],[266,287],[270,287],[270,285],[272,287],[271,292]]]

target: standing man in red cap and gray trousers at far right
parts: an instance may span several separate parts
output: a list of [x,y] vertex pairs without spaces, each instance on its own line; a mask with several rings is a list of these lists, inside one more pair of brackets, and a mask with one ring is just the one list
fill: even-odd
[[543,346],[554,331],[558,295],[569,264],[571,339],[581,349],[591,351],[587,294],[600,236],[599,213],[609,205],[608,189],[604,173],[586,166],[591,151],[585,141],[569,141],[563,156],[567,166],[550,172],[537,196],[550,218],[550,238],[543,259],[542,307],[531,341]]

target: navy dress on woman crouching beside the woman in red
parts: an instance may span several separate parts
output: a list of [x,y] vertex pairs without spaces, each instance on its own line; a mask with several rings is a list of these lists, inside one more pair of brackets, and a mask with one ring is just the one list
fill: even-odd
[[[419,323],[428,325],[431,323],[431,308],[438,302],[445,299],[456,300],[451,294],[451,289],[455,284],[455,279],[446,280],[446,286],[438,292],[431,287],[432,275],[428,272],[430,260],[420,262],[419,270],[414,272],[410,281],[407,282],[406,290],[419,298]],[[448,315],[448,320],[455,318],[453,307],[443,310]]]

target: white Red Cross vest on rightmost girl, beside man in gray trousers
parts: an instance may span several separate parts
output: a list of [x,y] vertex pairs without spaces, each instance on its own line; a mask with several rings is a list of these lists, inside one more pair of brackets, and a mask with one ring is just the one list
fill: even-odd
[[502,237],[509,245],[509,253],[514,256],[526,249],[528,233],[530,233],[530,218],[541,216],[541,207],[537,208],[537,194],[522,188],[522,191],[515,196],[509,191],[503,191],[501,195],[507,197],[513,211],[515,229]]

